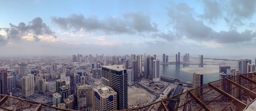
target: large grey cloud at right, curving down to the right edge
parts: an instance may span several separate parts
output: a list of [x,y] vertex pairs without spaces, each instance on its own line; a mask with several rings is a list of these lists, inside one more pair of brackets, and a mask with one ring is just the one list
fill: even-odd
[[[185,10],[181,9],[181,7],[184,7]],[[256,37],[256,32],[250,30],[245,30],[241,33],[235,30],[216,32],[206,26],[202,20],[196,20],[192,15],[193,12],[194,10],[186,3],[177,4],[169,10],[169,17],[174,23],[174,33],[177,38],[186,37],[197,41],[238,43],[250,41]]]

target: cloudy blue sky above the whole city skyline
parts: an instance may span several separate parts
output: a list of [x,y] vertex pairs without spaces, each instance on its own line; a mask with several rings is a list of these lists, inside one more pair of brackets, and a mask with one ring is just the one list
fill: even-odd
[[254,56],[256,0],[0,0],[0,56]]

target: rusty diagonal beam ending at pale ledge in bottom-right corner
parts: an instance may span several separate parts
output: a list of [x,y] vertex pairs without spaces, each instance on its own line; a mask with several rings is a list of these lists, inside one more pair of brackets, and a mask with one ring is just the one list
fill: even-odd
[[231,96],[230,94],[227,94],[225,91],[222,91],[221,89],[217,88],[216,86],[212,85],[212,83],[208,83],[209,86],[214,88],[219,93],[225,95],[226,97],[229,97],[231,100],[234,100],[234,104],[239,105],[241,109],[244,109],[247,105],[244,102],[241,102],[240,100],[236,99],[235,97]]

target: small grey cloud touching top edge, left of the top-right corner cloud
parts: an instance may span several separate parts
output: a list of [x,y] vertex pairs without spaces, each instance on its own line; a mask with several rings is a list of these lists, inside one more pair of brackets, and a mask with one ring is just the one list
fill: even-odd
[[202,0],[204,5],[204,14],[201,15],[204,19],[209,19],[214,23],[222,15],[221,5],[216,0]]

